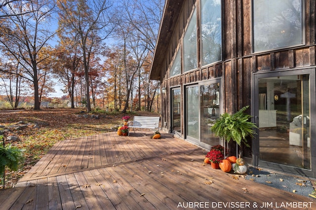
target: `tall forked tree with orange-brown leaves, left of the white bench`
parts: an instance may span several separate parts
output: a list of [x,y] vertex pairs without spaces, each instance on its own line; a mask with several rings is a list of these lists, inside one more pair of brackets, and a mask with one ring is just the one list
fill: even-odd
[[108,10],[111,0],[58,0],[59,27],[70,31],[80,46],[85,79],[87,111],[90,105],[90,58],[94,48],[108,37],[112,31]]

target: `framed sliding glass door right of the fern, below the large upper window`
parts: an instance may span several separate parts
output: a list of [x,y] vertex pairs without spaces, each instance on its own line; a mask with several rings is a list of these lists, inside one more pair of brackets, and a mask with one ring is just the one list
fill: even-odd
[[257,74],[254,82],[258,164],[309,173],[315,156],[315,133],[311,129],[315,121],[315,91],[311,92],[315,90],[315,72],[306,69]]

